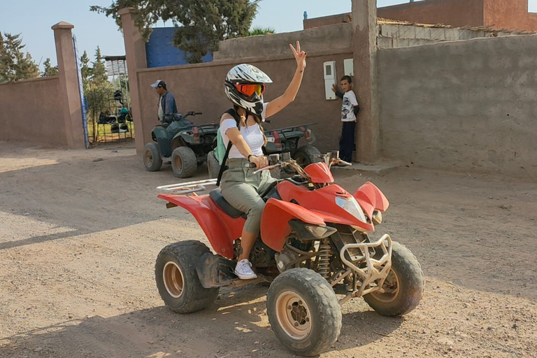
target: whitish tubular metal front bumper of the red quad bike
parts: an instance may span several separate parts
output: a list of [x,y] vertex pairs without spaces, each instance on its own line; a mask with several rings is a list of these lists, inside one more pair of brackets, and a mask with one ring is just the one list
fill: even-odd
[[[353,256],[349,251],[353,248],[359,249],[361,256]],[[383,255],[379,259],[373,259],[373,255],[371,255],[370,249],[375,248],[382,249]],[[336,281],[331,282],[332,286],[341,282],[350,273],[357,273],[361,278],[359,282],[357,280],[353,282],[352,292],[339,301],[340,305],[343,305],[353,297],[361,297],[371,292],[383,292],[382,285],[387,278],[389,269],[392,268],[392,238],[388,234],[384,234],[374,243],[348,243],[341,248],[339,257],[341,257],[343,264],[348,267],[348,270]],[[359,268],[357,264],[364,264],[364,260],[367,266]],[[370,286],[372,283],[375,285]]]

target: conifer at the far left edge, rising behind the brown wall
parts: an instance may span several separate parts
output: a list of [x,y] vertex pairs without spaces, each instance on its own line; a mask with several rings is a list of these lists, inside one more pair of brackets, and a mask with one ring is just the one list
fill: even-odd
[[13,82],[36,78],[39,69],[31,55],[24,53],[20,34],[11,35],[0,33],[0,82]]

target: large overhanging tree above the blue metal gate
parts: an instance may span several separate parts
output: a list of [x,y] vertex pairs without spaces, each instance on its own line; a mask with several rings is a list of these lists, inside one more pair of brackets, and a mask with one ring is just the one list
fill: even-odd
[[248,35],[259,1],[115,0],[108,8],[91,6],[90,10],[113,17],[121,27],[117,11],[137,8],[134,22],[145,41],[151,34],[151,25],[158,20],[171,21],[176,25],[173,45],[186,52],[188,62],[199,63],[207,52],[218,50],[220,41]]

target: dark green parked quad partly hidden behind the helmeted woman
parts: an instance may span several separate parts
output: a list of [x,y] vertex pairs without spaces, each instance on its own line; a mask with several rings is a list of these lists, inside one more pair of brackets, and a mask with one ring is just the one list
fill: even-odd
[[[271,124],[269,120],[265,123]],[[296,160],[296,163],[302,168],[312,163],[321,162],[321,152],[312,145],[315,142],[315,134],[308,128],[313,124],[315,123],[265,130],[264,133],[267,143],[263,147],[264,155],[290,152],[291,157]],[[213,148],[215,147],[216,138],[213,143]],[[220,163],[217,161],[212,150],[207,155],[207,169],[209,171],[209,178],[218,177]],[[282,171],[287,173],[287,168],[282,169]]]

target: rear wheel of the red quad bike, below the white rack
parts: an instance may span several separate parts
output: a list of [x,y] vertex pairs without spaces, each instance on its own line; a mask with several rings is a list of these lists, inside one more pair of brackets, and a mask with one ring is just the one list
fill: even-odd
[[196,264],[206,252],[210,250],[199,241],[180,241],[160,251],[155,280],[162,300],[173,312],[196,312],[216,299],[218,288],[203,287],[196,272]]

